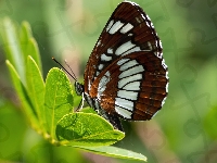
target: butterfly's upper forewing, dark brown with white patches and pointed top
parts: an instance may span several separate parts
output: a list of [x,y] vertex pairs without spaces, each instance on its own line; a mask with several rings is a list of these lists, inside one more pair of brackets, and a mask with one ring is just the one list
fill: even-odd
[[122,2],[106,23],[85,72],[85,91],[114,61],[137,51],[152,51],[162,59],[161,41],[149,16],[133,2]]

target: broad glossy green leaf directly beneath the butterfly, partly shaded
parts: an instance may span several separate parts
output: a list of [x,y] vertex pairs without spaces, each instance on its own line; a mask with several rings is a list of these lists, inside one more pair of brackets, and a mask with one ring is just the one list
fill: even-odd
[[71,113],[56,126],[58,140],[72,146],[106,146],[123,139],[125,134],[114,129],[103,117],[92,113]]

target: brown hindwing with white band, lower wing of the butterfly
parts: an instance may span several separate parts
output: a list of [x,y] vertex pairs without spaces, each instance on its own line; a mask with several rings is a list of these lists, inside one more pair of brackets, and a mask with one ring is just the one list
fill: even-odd
[[167,96],[167,68],[153,52],[133,52],[116,60],[92,84],[90,96],[112,115],[150,120]]

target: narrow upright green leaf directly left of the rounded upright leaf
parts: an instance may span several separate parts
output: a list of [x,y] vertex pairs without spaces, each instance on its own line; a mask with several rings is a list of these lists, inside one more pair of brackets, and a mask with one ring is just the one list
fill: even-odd
[[27,58],[26,82],[28,95],[36,109],[40,126],[42,130],[44,130],[43,124],[46,124],[46,121],[43,115],[43,103],[46,88],[40,71],[30,55]]

